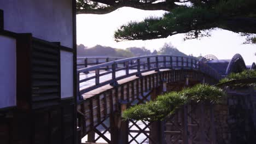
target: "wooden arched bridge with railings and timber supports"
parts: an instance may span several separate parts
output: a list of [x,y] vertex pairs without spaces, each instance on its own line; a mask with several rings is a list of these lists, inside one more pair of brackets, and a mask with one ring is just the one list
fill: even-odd
[[[154,55],[78,69],[79,137],[84,137],[84,143],[216,143],[211,105],[185,105],[175,116],[153,123],[126,122],[121,113],[164,92],[180,91],[196,83],[217,83],[224,76],[218,65],[225,65],[226,73],[241,71],[246,69],[241,58],[236,55],[223,64],[209,56],[200,61],[194,57]],[[78,65],[86,65],[88,59],[79,61],[82,63]],[[211,61],[218,62],[214,65]],[[255,69],[255,63],[251,69]]]

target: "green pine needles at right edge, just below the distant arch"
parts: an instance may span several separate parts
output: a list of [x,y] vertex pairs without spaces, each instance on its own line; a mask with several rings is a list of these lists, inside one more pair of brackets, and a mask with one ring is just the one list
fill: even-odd
[[[242,80],[242,79],[250,79],[250,78],[256,78],[256,70],[244,70],[241,73],[231,73],[228,76],[226,76],[224,79],[220,80],[219,83],[225,83],[229,82],[232,80]],[[249,84],[243,84],[243,83],[238,83],[235,84],[234,86],[253,86],[256,87],[256,82],[255,83],[249,83]]]

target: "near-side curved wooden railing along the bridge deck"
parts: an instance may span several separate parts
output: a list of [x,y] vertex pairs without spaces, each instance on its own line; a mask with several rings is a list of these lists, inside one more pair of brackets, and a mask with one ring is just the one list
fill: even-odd
[[[109,68],[106,71],[100,71],[102,68]],[[210,67],[209,65],[199,62],[197,59],[192,57],[180,57],[180,56],[171,56],[171,55],[152,55],[152,56],[141,56],[141,57],[132,57],[119,59],[117,61],[106,62],[102,64],[97,64],[92,67],[82,68],[77,71],[78,79],[78,100],[82,100],[82,94],[89,92],[93,89],[105,86],[112,85],[117,86],[118,80],[130,77],[133,75],[141,76],[142,73],[147,71],[159,71],[159,69],[193,69],[198,70],[201,73],[207,74],[214,79],[219,80],[219,73]],[[89,73],[89,71],[94,71],[95,74],[91,76],[86,76],[85,79],[80,79],[81,73]],[[119,71],[125,71],[122,75],[117,75]],[[106,75],[110,75],[110,79],[105,81],[100,81],[100,79]],[[79,88],[79,85],[89,80],[95,82],[94,85],[85,88]]]

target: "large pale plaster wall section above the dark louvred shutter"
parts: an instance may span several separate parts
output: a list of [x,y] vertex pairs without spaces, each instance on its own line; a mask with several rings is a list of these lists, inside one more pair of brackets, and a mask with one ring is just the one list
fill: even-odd
[[1,0],[4,29],[73,47],[72,0]]

